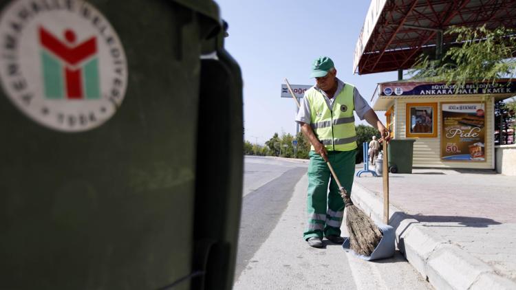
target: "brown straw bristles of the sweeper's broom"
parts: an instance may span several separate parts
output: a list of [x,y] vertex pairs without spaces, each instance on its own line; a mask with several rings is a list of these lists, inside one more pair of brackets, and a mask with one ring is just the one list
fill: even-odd
[[359,255],[371,256],[382,239],[382,232],[374,221],[354,204],[347,204],[346,226],[350,233],[350,247]]

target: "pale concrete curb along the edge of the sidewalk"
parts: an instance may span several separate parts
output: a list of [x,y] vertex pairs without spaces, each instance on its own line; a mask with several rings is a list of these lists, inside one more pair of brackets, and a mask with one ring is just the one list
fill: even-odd
[[[352,199],[374,221],[382,222],[383,197],[355,182]],[[436,289],[516,289],[515,282],[393,205],[389,205],[389,225],[396,229],[400,252]]]

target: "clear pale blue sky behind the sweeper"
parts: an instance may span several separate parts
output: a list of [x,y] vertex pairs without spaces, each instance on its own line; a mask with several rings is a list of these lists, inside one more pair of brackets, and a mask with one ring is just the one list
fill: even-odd
[[[398,77],[396,71],[353,74],[354,49],[370,1],[215,2],[229,24],[226,49],[242,69],[245,139],[252,143],[264,144],[274,133],[294,135],[296,105],[280,98],[281,84],[288,78],[290,84],[314,85],[310,65],[318,56],[330,56],[337,77],[355,85],[369,104],[378,82]],[[385,122],[385,112],[377,114]]]

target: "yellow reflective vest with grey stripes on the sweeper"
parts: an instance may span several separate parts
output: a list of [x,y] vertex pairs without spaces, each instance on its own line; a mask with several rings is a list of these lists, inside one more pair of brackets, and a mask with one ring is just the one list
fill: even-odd
[[[310,103],[310,126],[326,150],[350,151],[357,147],[353,91],[354,86],[346,83],[341,92],[334,96],[333,109],[328,108],[323,93],[315,87],[305,93]],[[314,146],[311,150],[314,150]]]

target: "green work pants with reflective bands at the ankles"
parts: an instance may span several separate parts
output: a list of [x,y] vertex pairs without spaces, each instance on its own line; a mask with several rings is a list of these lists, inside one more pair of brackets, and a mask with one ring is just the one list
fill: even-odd
[[[341,181],[341,185],[351,194],[355,173],[356,150],[328,151],[330,164]],[[328,181],[330,192],[328,192]],[[310,151],[308,166],[308,197],[306,199],[308,225],[303,234],[307,240],[312,236],[341,235],[341,224],[344,216],[344,201],[330,168],[321,155]]]

